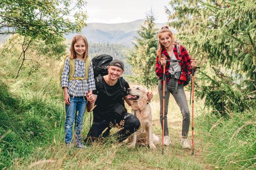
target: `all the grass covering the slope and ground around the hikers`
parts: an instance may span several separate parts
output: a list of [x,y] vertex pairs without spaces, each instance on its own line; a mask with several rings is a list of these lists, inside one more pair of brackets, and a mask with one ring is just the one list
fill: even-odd
[[[14,44],[11,44],[14,43]],[[169,104],[169,132],[172,144],[161,144],[151,151],[148,147],[129,149],[114,138],[94,143],[85,150],[64,145],[63,94],[58,82],[59,62],[43,56],[37,60],[40,68],[29,71],[26,60],[18,79],[15,74],[21,52],[10,42],[0,57],[0,169],[88,169],[88,170],[211,170],[256,168],[256,110],[228,113],[227,118],[213,115],[195,101],[195,155],[179,144],[182,116],[173,98]],[[29,73],[29,74],[28,74]],[[132,85],[131,85],[132,86]],[[152,108],[153,131],[161,136],[159,98],[156,87],[150,89],[154,98]],[[189,100],[189,91],[187,93]],[[252,107],[252,106],[251,106]],[[191,109],[191,108],[190,108]],[[130,108],[128,108],[130,110]],[[85,116],[83,134],[89,130],[89,115]],[[191,132],[189,134],[191,139]],[[160,137],[161,140],[161,137]]]

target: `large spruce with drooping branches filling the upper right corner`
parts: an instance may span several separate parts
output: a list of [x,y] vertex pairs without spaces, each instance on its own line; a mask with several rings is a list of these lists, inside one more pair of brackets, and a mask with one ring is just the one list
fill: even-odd
[[172,0],[170,25],[204,66],[197,95],[223,115],[255,105],[256,1]]

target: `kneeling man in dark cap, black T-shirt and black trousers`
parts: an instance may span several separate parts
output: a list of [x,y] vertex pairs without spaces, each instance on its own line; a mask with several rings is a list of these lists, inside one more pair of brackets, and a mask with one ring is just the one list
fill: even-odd
[[[125,102],[130,105],[127,99],[127,81],[121,77],[124,73],[124,63],[114,59],[108,66],[108,74],[99,75],[95,78],[96,90],[93,94],[87,94],[87,98],[93,100],[89,103],[87,109],[93,109],[93,123],[88,132],[86,142],[94,141],[100,137],[109,136],[109,131],[113,126],[121,126],[114,135],[118,141],[125,140],[128,136],[138,130],[140,121],[132,114],[127,113]],[[148,98],[151,100],[152,92],[148,92]]]

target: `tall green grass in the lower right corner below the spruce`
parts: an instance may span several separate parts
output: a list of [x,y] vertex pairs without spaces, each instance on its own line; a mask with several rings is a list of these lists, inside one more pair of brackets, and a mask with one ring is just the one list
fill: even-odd
[[208,162],[220,169],[256,169],[256,109],[201,117],[200,137]]

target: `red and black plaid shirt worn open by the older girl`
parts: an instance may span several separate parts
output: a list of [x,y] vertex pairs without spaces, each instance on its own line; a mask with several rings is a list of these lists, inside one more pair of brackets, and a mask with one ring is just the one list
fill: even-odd
[[[182,71],[182,74],[180,76],[180,80],[178,81],[178,84],[183,84],[184,81],[187,80],[187,71],[189,71],[189,73],[191,73],[191,59],[190,59],[190,56],[187,52],[187,50],[185,49],[185,47],[183,46],[180,46],[180,54],[181,54],[181,58],[179,58],[179,55],[178,55],[178,51],[177,51],[177,48],[176,48],[176,45],[178,44],[175,44],[174,48],[173,48],[173,53],[176,57],[177,60],[181,60],[181,62],[179,62],[179,65],[181,66],[181,71]],[[164,54],[167,58],[167,60],[170,60],[170,56],[168,54],[168,52],[166,51],[166,49],[164,48],[161,52],[161,55]],[[165,68],[165,74],[168,75],[170,74],[170,72],[168,71],[169,68],[170,68],[170,61],[167,61],[166,62],[166,68]],[[160,64],[160,61],[158,59],[158,55],[156,56],[156,64],[155,64],[155,74],[157,75],[157,77],[161,80],[162,77],[163,77],[163,66]],[[166,83],[168,84],[170,78],[167,76],[166,77]],[[182,81],[184,80],[184,81]],[[163,84],[163,81],[162,81],[162,84]]]

